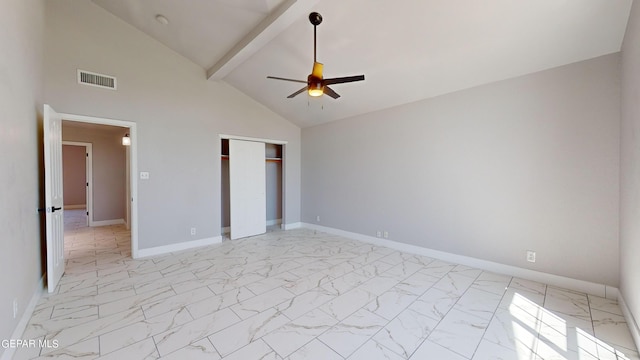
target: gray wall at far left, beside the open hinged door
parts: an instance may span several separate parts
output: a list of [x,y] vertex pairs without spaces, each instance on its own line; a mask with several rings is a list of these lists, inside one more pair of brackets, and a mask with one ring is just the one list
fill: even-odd
[[[44,2],[7,0],[0,11],[0,339],[9,339],[36,284],[40,262]],[[40,120],[41,124],[41,120]],[[13,318],[13,299],[18,316]],[[0,347],[0,354],[5,351]]]

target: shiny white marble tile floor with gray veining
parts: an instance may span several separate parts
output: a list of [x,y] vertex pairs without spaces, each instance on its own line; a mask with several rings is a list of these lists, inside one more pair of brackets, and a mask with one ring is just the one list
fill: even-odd
[[14,359],[631,359],[612,300],[328,235],[273,231],[133,260],[67,231]]

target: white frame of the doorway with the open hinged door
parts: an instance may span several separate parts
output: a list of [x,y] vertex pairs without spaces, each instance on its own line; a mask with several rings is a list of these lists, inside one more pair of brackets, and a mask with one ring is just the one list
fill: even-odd
[[[138,181],[136,174],[138,173],[138,137],[137,137],[137,126],[135,122],[125,121],[125,120],[116,120],[116,119],[107,119],[101,117],[94,116],[86,116],[86,115],[75,115],[75,114],[66,114],[59,113],[62,117],[63,121],[75,121],[75,122],[83,122],[89,124],[98,124],[98,125],[110,125],[110,126],[118,126],[122,128],[129,129],[129,137],[131,138],[131,145],[129,145],[130,151],[130,163],[129,163],[129,177],[127,182],[129,183],[131,197],[130,197],[130,208],[131,208],[131,257],[136,259],[138,258]],[[124,146],[124,145],[123,145]]]

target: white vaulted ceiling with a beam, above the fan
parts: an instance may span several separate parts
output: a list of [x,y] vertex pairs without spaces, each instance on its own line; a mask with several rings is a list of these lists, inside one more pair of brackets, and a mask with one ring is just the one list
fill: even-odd
[[[93,0],[301,127],[620,51],[632,0]],[[318,61],[341,98],[286,96]],[[168,25],[155,20],[157,14]]]

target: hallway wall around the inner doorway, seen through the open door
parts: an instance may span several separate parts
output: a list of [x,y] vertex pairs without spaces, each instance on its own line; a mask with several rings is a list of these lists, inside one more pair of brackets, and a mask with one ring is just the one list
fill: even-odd
[[[93,220],[126,220],[126,148],[122,128],[83,128],[63,121],[62,140],[91,143]],[[83,148],[84,149],[84,148]],[[67,194],[64,194],[65,202]]]

